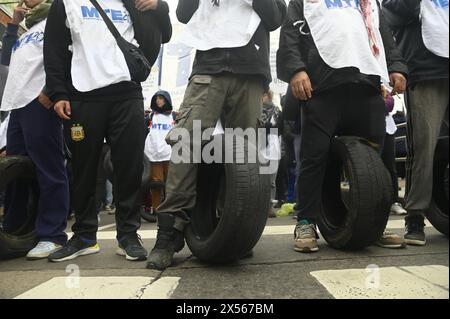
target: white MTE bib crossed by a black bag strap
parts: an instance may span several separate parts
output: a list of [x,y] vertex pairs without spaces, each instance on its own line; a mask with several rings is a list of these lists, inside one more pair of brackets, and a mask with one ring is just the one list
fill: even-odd
[[[131,81],[125,57],[102,17],[89,0],[63,0],[72,35],[72,82],[80,92]],[[137,45],[134,29],[121,0],[99,0],[122,37]]]

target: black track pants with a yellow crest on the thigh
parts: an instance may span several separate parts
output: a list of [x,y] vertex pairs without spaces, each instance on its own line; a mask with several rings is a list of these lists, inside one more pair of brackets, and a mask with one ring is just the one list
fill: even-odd
[[106,138],[114,167],[117,238],[136,233],[140,220],[140,186],[144,156],[142,100],[72,102],[71,120],[65,124],[72,151],[75,234],[96,240],[98,229],[96,181]]

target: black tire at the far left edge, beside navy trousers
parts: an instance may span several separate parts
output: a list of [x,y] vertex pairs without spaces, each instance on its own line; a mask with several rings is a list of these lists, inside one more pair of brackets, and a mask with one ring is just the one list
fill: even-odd
[[34,165],[28,157],[8,156],[0,158],[0,192],[14,181],[30,183],[30,194],[27,203],[27,218],[23,225],[13,233],[0,229],[0,260],[25,256],[37,244],[34,232],[39,188],[36,182]]

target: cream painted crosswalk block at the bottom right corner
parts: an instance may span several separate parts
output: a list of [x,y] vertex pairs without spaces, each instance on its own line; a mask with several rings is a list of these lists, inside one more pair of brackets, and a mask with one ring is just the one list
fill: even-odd
[[336,299],[449,299],[449,269],[412,266],[323,270],[310,274]]

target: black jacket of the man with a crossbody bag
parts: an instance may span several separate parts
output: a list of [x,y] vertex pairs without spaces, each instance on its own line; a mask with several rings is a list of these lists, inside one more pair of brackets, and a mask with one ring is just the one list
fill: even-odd
[[[159,0],[154,11],[140,12],[134,0],[122,0],[133,21],[135,39],[147,59],[153,64],[159,54],[161,43],[172,36],[169,6]],[[47,19],[44,38],[44,65],[47,94],[53,102],[60,100],[117,101],[133,98],[142,99],[141,85],[121,82],[91,92],[78,92],[72,85],[72,44],[70,30],[66,26],[66,11],[62,0],[55,0]]]

